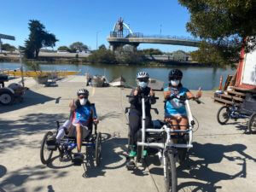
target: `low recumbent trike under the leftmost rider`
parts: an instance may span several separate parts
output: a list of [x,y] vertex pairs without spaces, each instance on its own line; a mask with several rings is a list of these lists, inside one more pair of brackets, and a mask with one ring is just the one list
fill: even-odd
[[[52,154],[54,151],[59,152],[59,160],[72,160],[74,166],[81,166],[84,163],[84,158],[81,159],[78,153],[73,153],[73,149],[77,147],[77,139],[75,134],[76,127],[71,125],[68,131],[65,131],[65,136],[61,138],[59,143],[51,144],[50,140],[52,137],[57,136],[60,123],[56,121],[57,131],[48,131],[45,133],[43,142],[40,149],[40,159],[43,164],[49,164],[52,161]],[[97,132],[97,124],[93,122],[91,117],[89,125],[83,129],[83,140],[82,146],[85,148],[94,148],[94,159],[96,161],[96,166],[100,165],[102,159],[102,134]],[[86,134],[84,134],[86,131]]]

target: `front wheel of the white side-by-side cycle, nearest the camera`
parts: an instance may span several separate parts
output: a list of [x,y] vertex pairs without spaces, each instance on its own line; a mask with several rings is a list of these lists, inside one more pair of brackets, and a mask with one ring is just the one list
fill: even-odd
[[166,170],[166,175],[165,175],[166,192],[176,192],[177,191],[177,174],[176,174],[176,164],[175,164],[173,153],[166,154],[166,165],[164,167],[164,170]]

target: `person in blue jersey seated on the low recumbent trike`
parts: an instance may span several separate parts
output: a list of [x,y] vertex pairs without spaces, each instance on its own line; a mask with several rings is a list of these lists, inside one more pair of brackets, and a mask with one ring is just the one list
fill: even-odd
[[76,101],[73,100],[69,104],[69,107],[74,112],[72,122],[76,126],[78,152],[80,153],[83,140],[82,126],[88,127],[91,120],[97,124],[98,119],[96,108],[88,100],[89,91],[81,89],[77,92],[77,95],[78,99]]

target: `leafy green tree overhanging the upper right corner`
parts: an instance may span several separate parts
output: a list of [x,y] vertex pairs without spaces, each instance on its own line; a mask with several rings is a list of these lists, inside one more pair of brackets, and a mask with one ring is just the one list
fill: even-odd
[[204,62],[207,63],[226,65],[239,61],[242,46],[245,46],[247,51],[255,48],[256,1],[178,1],[191,15],[187,30],[193,36],[203,39],[200,49],[192,56],[201,58],[201,61],[205,58]]

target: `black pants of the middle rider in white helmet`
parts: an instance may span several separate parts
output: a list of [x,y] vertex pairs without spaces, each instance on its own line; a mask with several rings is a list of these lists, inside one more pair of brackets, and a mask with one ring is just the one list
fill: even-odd
[[[136,111],[131,111],[129,113],[131,145],[137,145],[137,137],[141,137],[141,135],[138,134],[138,131],[142,129],[142,118],[142,115]],[[151,116],[146,116],[146,128],[152,125],[151,119]]]

